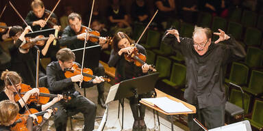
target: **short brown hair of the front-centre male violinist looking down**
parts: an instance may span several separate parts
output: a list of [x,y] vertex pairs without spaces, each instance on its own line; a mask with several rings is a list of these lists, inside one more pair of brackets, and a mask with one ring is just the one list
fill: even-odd
[[75,61],[75,54],[69,48],[62,48],[58,50],[58,53],[56,54],[56,58],[62,62],[70,61],[70,60]]

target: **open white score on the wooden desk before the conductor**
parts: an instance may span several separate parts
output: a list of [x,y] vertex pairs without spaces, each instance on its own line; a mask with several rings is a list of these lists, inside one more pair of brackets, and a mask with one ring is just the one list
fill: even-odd
[[166,97],[162,98],[143,98],[143,101],[150,102],[155,106],[158,106],[160,109],[165,111],[166,113],[183,113],[183,112],[191,112],[190,108],[186,107],[181,102],[175,102]]

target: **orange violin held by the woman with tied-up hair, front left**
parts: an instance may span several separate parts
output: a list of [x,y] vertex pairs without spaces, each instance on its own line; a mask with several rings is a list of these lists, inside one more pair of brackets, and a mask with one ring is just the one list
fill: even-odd
[[[23,97],[25,95],[25,93],[27,93],[27,91],[29,91],[31,89],[32,89],[32,87],[30,87],[30,85],[25,85],[25,84],[21,83],[21,90],[20,90],[21,96]],[[39,96],[36,96],[36,95],[30,96],[29,99],[27,100],[26,104],[29,104],[31,102],[35,102],[38,104],[47,104],[47,102],[49,102],[50,98],[55,98],[58,96],[56,94],[49,93],[49,89],[47,89],[46,87],[39,87],[38,89],[40,92]],[[18,96],[18,94],[15,93],[14,101],[18,102],[18,100],[20,100],[20,99],[21,98]],[[71,100],[71,97],[63,95],[63,99],[64,100]]]

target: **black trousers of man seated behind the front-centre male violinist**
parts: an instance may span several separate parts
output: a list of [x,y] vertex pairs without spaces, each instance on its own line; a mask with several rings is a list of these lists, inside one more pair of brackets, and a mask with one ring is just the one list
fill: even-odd
[[[105,70],[104,70],[103,65],[101,65],[101,63],[99,63],[99,67],[94,69],[93,74],[95,76],[104,76],[105,75]],[[103,93],[104,93],[104,82],[97,84],[97,90],[98,90],[99,96],[103,95]]]

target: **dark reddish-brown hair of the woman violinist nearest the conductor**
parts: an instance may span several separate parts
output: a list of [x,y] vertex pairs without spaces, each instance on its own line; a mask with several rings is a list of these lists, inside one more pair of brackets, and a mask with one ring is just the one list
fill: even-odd
[[[120,32],[118,32],[120,33]],[[118,33],[116,33],[112,39],[112,48],[114,49],[114,52],[117,53],[118,50],[120,50],[121,48],[118,48],[118,42],[121,41],[121,39],[123,38],[127,38],[127,40],[129,41],[129,44],[133,44],[134,43],[134,40],[132,40],[131,38],[129,38],[129,36],[126,34],[126,33],[123,33],[123,37],[120,37],[118,35]]]

